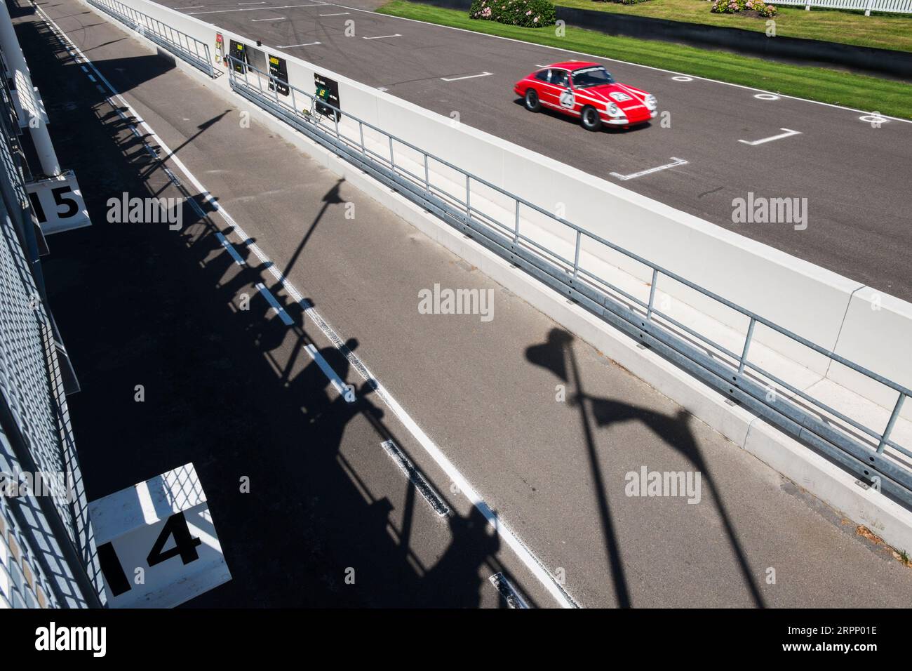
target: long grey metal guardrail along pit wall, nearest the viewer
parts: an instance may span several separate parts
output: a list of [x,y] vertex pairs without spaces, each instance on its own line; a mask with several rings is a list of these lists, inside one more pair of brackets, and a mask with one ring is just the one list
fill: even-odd
[[[659,267],[644,257],[623,249],[601,236],[596,236],[536,204],[510,194],[499,186],[346,112],[347,119],[358,124],[357,134],[352,136],[345,128],[340,128],[339,118],[342,110],[319,100],[319,104],[325,109],[335,110],[334,114],[322,117],[311,111],[314,110],[316,102],[314,94],[298,89],[289,82],[277,79],[233,56],[228,58],[231,88],[245,99],[356,164],[448,224],[472,236],[483,246],[522,267],[544,284],[574,299],[617,329],[658,351],[704,383],[727,394],[787,433],[814,446],[855,476],[875,483],[881,491],[912,506],[912,452],[890,439],[903,401],[906,396],[912,395],[912,391],[907,387],[848,361],[833,351],[808,341],[764,319],[761,315],[690,282],[687,278],[680,277],[677,273]],[[251,83],[251,79],[255,79],[255,82]],[[280,86],[276,84],[283,88],[287,87],[290,95],[281,95]],[[309,109],[299,110],[299,101],[309,101]],[[385,138],[384,144],[389,146],[389,153],[381,154],[370,149],[364,142],[365,129],[379,133],[380,137]],[[396,162],[396,147],[399,146],[409,148],[422,157],[423,175],[412,173],[405,169],[401,162]],[[433,163],[461,174],[465,180],[464,193],[452,194],[431,183],[429,165]],[[481,184],[512,200],[513,221],[498,221],[472,206],[472,183]],[[573,232],[575,256],[572,260],[561,257],[554,250],[547,249],[523,235],[523,208],[544,215]],[[648,301],[637,299],[583,267],[580,263],[580,250],[584,240],[596,242],[650,268],[652,282]],[[741,351],[731,351],[660,311],[656,306],[655,297],[658,281],[662,278],[679,282],[747,318],[749,326]],[[878,432],[861,424],[780,379],[772,372],[764,370],[757,363],[751,362],[751,342],[757,324],[762,324],[791,341],[824,355],[830,361],[841,363],[895,391],[896,405],[884,430]],[[793,397],[790,398],[789,394]]]

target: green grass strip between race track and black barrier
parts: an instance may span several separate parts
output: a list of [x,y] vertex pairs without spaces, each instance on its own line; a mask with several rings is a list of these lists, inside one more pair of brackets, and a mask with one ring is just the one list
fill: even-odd
[[[808,100],[830,102],[858,110],[876,110],[881,114],[912,119],[912,84],[892,79],[866,77],[826,68],[773,63],[760,58],[684,47],[668,42],[611,37],[593,30],[570,26],[566,28],[565,37],[557,37],[554,30],[549,28],[504,26],[493,21],[470,19],[468,12],[420,5],[405,0],[392,0],[377,11],[381,14],[465,28],[486,35],[512,37],[533,44],[617,58]],[[554,60],[559,58],[563,57],[555,53]]]

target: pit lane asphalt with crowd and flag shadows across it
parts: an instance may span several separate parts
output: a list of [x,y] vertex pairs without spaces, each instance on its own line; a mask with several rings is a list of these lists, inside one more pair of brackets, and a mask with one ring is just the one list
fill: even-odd
[[[244,128],[120,27],[76,0],[40,6],[342,338],[358,339],[378,380],[579,603],[909,603],[912,571],[793,483],[255,120]],[[486,577],[497,566],[554,605],[388,408],[370,394],[338,402],[302,344],[360,390],[357,375],[284,292],[291,328],[255,298],[257,281],[275,283],[253,257],[233,264],[209,226],[244,246],[216,216],[188,217],[181,233],[107,224],[110,196],[173,186],[132,164],[142,152],[130,131],[35,22],[18,19],[20,39],[95,222],[51,238],[44,261],[83,384],[70,406],[89,498],[192,460],[234,576],[207,605],[496,605]],[[435,283],[492,290],[494,319],[420,314],[419,291]],[[236,307],[244,293],[250,312]],[[416,500],[378,445],[388,433],[457,515]],[[627,497],[627,473],[643,466],[699,470],[700,503]]]

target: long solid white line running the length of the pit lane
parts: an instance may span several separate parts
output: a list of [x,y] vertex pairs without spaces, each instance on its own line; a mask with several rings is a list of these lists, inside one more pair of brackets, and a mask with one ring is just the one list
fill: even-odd
[[[36,7],[36,9],[38,13],[41,14],[41,16],[44,16],[47,24],[56,28],[61,34],[63,33],[63,31],[59,30],[59,27],[56,23],[54,23],[51,17],[47,16],[47,12],[45,12],[40,6]],[[352,9],[352,7],[346,7],[346,9]],[[374,13],[372,12],[371,14]],[[68,37],[66,39],[67,41],[70,41]],[[72,44],[71,41],[70,44]],[[74,48],[77,48],[78,50],[78,47]],[[223,218],[225,224],[231,226],[234,230],[234,233],[240,236],[242,240],[250,240],[250,236],[247,236],[247,234],[244,233],[244,229],[238,225],[236,221],[234,221],[233,216],[228,214],[225,208],[219,204],[218,200],[212,194],[210,194],[206,187],[203,186],[202,183],[196,178],[196,176],[190,172],[190,169],[184,165],[181,159],[178,158],[174,152],[171,152],[171,149],[168,147],[168,145],[164,142],[161,142],[161,138],[158,136],[158,134],[152,130],[151,126],[146,121],[144,121],[142,117],[140,117],[139,113],[133,109],[130,103],[127,102],[127,100],[118,92],[118,90],[114,88],[108,79],[105,79],[105,76],[98,71],[98,68],[95,67],[95,64],[86,58],[81,51],[79,51],[79,55],[82,56],[82,58],[85,58],[88,66],[92,68],[98,79],[101,79],[105,83],[105,85],[110,90],[113,98],[119,102],[119,107],[127,110],[126,114],[122,111],[120,112],[121,118],[126,119],[128,114],[132,116],[135,120],[134,123],[144,129],[149,134],[150,138],[154,142],[157,142],[159,146],[161,146],[161,151],[167,154],[168,160],[174,163],[174,165],[176,165],[181,170],[181,172],[187,176],[188,182],[192,183],[196,190],[202,195],[203,200],[205,200],[206,203],[212,207],[212,211],[217,212],[219,216]],[[257,110],[257,112],[263,115],[266,114],[266,112],[262,110]],[[269,258],[264,255],[258,246],[250,243],[247,245],[247,247],[251,250],[251,252],[254,253],[254,255],[256,255],[257,258],[260,259],[260,261],[264,263],[264,265],[268,264],[269,272],[273,275],[273,277],[282,283],[282,286],[285,288],[285,291],[288,293],[288,295],[291,296],[292,299],[295,299],[305,309],[306,315],[314,321],[317,328],[323,331],[324,335],[326,335],[326,337],[332,341],[333,345],[335,345],[338,351],[342,352],[352,367],[358,371],[358,374],[360,374],[361,377],[370,383],[370,385],[374,388],[375,393],[377,393],[378,397],[382,399],[387,407],[389,407],[389,410],[399,418],[399,421],[405,426],[406,430],[409,431],[409,434],[414,436],[414,438],[420,443],[425,451],[444,470],[447,476],[451,478],[452,483],[456,485],[462,494],[472,502],[472,505],[482,513],[484,518],[487,519],[492,528],[497,531],[498,535],[500,535],[503,541],[508,546],[510,546],[511,550],[513,550],[517,558],[523,562],[529,571],[532,571],[535,578],[544,585],[544,588],[552,596],[554,596],[554,599],[557,601],[557,603],[560,603],[560,605],[564,608],[577,607],[577,604],[573,600],[573,597],[571,597],[570,594],[568,594],[565,589],[556,580],[554,580],[554,576],[552,576],[544,568],[544,564],[542,564],[542,562],[537,557],[535,557],[532,551],[525,546],[523,540],[520,540],[519,537],[514,535],[509,526],[507,526],[507,524],[498,517],[497,513],[495,513],[491,507],[484,502],[478,492],[472,488],[472,485],[469,483],[469,481],[462,476],[460,471],[454,467],[451,461],[440,451],[440,447],[436,446],[430,437],[420,429],[419,425],[415,423],[415,420],[413,420],[402,408],[402,406],[399,405],[399,402],[392,395],[390,395],[386,387],[384,387],[383,384],[381,384],[373,376],[373,374],[368,371],[367,366],[365,366],[364,363],[358,359],[355,353],[348,350],[345,345],[345,341],[339,338],[336,331],[326,323],[326,320],[324,320],[319,315],[319,313],[317,313],[316,309],[307,303],[306,299],[301,296],[300,292],[295,288],[295,286],[282,275],[282,273],[275,267],[272,261],[270,261]]]

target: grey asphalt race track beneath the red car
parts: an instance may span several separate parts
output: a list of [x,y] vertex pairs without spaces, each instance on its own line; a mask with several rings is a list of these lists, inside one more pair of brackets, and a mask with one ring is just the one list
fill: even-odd
[[[361,2],[357,6],[366,9],[315,0],[161,4],[426,109],[446,116],[456,111],[462,123],[912,300],[912,123],[886,120],[875,128],[860,120],[864,111],[784,97],[760,100],[756,96],[765,94],[754,89],[683,81],[688,78],[675,72],[378,15],[367,11],[377,5],[372,0]],[[355,21],[354,37],[345,37],[347,20]],[[525,111],[513,82],[538,65],[573,58],[603,63],[618,81],[655,94],[658,110],[670,112],[670,127],[663,128],[659,116],[647,127],[592,134],[569,118]],[[783,135],[782,129],[801,134],[746,143]],[[611,174],[640,173],[673,163],[672,157],[688,163],[627,180]],[[806,230],[788,223],[733,224],[732,201],[749,192],[807,198]]]

